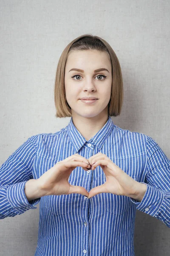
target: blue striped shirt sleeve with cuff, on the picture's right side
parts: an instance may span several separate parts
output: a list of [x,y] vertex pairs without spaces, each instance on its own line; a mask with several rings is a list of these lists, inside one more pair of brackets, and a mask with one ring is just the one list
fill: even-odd
[[170,160],[153,138],[147,136],[147,190],[142,201],[130,200],[136,209],[145,212],[170,227]]

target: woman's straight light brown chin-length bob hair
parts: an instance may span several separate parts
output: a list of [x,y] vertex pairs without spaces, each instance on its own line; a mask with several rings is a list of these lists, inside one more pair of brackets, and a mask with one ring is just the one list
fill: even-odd
[[111,46],[104,39],[99,38],[98,36],[93,36],[91,34],[85,34],[71,41],[71,43],[65,47],[59,58],[54,86],[54,101],[57,110],[55,115],[56,117],[72,116],[71,108],[66,100],[64,84],[65,64],[68,58],[68,53],[71,50],[91,49],[106,52],[111,61],[112,89],[111,99],[108,103],[108,115],[119,116],[123,104],[123,82],[119,60]]

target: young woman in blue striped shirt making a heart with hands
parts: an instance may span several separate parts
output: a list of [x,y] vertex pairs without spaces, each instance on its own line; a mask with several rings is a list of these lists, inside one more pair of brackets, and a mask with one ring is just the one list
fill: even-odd
[[170,160],[151,137],[113,124],[123,101],[111,46],[82,35],[55,82],[60,131],[37,134],[0,168],[0,218],[40,202],[35,256],[134,256],[136,209],[170,227]]

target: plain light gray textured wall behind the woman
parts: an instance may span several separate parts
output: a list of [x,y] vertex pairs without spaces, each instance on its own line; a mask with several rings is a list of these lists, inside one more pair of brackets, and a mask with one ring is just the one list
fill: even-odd
[[[170,158],[170,1],[0,0],[0,165],[32,135],[55,132],[54,79],[62,50],[79,35],[104,38],[119,58],[122,113],[113,122],[142,132]],[[34,256],[39,206],[0,220],[0,256]],[[136,212],[136,256],[169,256],[170,229]]]

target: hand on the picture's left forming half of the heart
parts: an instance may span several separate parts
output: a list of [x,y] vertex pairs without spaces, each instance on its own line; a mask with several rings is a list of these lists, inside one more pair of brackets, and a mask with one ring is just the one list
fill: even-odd
[[85,171],[91,168],[88,160],[79,154],[71,155],[56,163],[51,169],[37,179],[39,188],[45,195],[69,195],[79,193],[88,197],[88,192],[81,186],[73,186],[68,182],[71,172],[81,166]]

